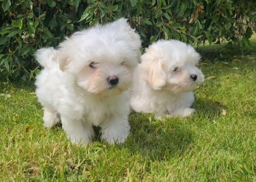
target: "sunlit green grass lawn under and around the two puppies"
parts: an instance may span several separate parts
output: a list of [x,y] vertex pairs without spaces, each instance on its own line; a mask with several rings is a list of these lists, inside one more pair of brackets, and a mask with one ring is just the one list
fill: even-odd
[[131,113],[115,146],[99,134],[72,145],[60,126],[43,127],[33,86],[0,82],[0,181],[256,181],[256,56],[207,55],[195,115]]

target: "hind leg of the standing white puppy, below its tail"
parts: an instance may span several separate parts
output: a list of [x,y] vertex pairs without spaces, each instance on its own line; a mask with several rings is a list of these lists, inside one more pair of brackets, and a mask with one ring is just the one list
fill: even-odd
[[50,109],[48,107],[43,108],[43,121],[45,127],[53,127],[57,123],[60,123],[59,115],[56,111],[53,109]]

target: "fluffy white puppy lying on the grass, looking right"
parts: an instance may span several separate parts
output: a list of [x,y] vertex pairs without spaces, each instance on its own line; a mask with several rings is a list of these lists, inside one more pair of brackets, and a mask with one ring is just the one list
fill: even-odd
[[177,40],[159,40],[141,56],[134,73],[131,106],[135,111],[155,113],[156,118],[185,117],[195,97],[192,90],[204,81],[197,68],[199,53]]

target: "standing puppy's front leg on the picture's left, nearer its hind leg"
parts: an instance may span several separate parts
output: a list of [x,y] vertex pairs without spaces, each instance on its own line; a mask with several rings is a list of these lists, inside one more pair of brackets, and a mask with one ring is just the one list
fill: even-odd
[[70,118],[61,118],[62,128],[66,132],[67,137],[72,143],[87,144],[93,138],[93,127],[84,124],[83,120],[75,120]]

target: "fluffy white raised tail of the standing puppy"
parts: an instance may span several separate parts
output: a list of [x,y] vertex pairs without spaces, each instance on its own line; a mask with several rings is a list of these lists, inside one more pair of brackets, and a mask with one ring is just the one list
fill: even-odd
[[35,59],[45,69],[59,68],[58,53],[53,47],[39,49],[35,53]]

